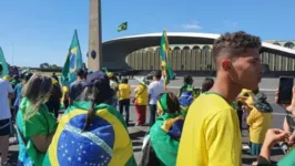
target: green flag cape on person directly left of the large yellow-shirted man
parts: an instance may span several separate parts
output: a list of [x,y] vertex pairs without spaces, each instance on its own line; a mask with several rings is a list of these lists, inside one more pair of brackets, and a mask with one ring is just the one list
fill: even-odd
[[180,145],[179,139],[183,123],[184,117],[182,115],[170,115],[165,113],[159,116],[155,124],[151,127],[151,144],[162,165],[176,165]]

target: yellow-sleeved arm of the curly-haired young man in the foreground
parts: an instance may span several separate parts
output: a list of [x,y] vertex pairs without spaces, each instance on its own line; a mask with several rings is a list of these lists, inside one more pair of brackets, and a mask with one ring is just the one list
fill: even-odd
[[234,115],[228,108],[218,112],[206,122],[204,146],[207,147],[210,166],[237,166],[242,163],[241,148],[237,148],[241,146],[241,138],[236,134],[240,132],[238,122],[233,123]]

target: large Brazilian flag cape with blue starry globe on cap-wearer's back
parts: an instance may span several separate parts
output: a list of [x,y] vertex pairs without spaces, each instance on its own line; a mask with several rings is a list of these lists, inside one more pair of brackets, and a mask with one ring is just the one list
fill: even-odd
[[90,102],[75,102],[62,116],[43,160],[44,166],[135,166],[126,125],[114,107],[95,106],[90,128],[82,131]]

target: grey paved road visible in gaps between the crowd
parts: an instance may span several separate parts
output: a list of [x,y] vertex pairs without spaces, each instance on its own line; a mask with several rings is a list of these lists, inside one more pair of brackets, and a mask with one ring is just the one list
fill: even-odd
[[[201,86],[202,81],[204,80],[204,77],[194,77],[194,85]],[[179,87],[182,85],[182,79],[177,79],[175,81],[172,81],[170,86],[169,86],[169,91],[172,91],[174,93],[177,93]],[[138,82],[135,80],[130,80],[130,84],[134,87]],[[275,92],[274,90],[277,86],[277,80],[276,79],[263,79],[262,83],[261,83],[261,89],[267,94],[268,97],[268,102],[272,103],[272,106],[274,107],[274,116],[273,116],[273,127],[278,127],[282,128],[283,125],[283,120],[284,120],[284,110],[282,107],[279,107],[278,105],[274,104],[274,95]],[[131,124],[134,124],[136,121],[136,114],[134,111],[134,106],[131,106]],[[148,112],[148,116],[149,116],[149,112]],[[149,120],[149,118],[146,118]],[[133,142],[133,149],[134,149],[134,154],[135,154],[135,158],[139,162],[141,158],[141,146],[142,146],[142,138],[144,136],[144,134],[146,133],[146,131],[149,129],[149,127],[144,126],[144,127],[135,127],[135,126],[131,126],[129,127],[129,132]],[[243,136],[243,146],[246,147],[247,142],[248,142],[248,136],[247,136],[247,132],[244,131],[244,136]],[[18,146],[10,146],[10,158],[12,162],[17,160],[17,155],[18,155]],[[275,147],[272,152],[272,159],[273,160],[278,160],[279,158],[282,158],[283,153],[279,148]],[[243,151],[243,165],[250,165],[253,160],[255,160],[255,157],[250,156],[246,154],[246,151]]]

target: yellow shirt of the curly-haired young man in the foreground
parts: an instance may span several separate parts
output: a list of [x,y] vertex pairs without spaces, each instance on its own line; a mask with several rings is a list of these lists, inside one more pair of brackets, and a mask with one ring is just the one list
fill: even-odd
[[236,112],[218,94],[201,94],[186,115],[177,166],[241,166],[241,153]]

